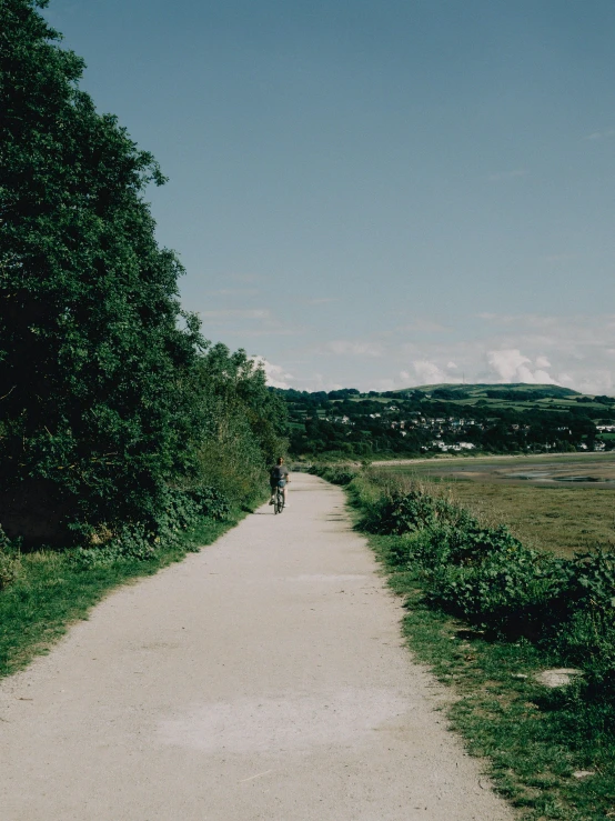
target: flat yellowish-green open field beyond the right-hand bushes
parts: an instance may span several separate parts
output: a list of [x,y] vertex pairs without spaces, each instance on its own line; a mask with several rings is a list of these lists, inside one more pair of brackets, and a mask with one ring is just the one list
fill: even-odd
[[379,470],[434,482],[527,547],[572,557],[615,549],[615,454],[503,457],[389,462]]

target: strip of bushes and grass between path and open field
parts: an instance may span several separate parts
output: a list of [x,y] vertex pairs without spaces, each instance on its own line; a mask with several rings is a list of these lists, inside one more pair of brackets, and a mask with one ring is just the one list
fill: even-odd
[[[346,488],[356,527],[405,597],[409,647],[454,689],[452,725],[471,752],[487,757],[521,817],[615,817],[608,545],[557,557],[433,482],[370,468],[314,471]],[[545,678],[554,670],[568,672]]]

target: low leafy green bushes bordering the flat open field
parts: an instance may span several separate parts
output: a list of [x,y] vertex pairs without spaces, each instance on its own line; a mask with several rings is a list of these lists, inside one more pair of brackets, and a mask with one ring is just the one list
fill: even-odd
[[[330,479],[332,469],[321,472]],[[331,479],[330,479],[331,481]],[[367,532],[394,537],[387,560],[414,569],[425,602],[493,635],[524,637],[578,665],[585,693],[615,695],[615,554],[534,551],[416,482],[364,470],[351,484]]]

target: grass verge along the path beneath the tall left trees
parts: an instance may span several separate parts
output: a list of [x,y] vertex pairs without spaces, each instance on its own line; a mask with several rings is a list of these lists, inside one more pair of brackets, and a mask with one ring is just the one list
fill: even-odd
[[181,561],[188,552],[214,542],[244,515],[235,509],[222,522],[203,519],[181,543],[161,549],[148,561],[124,560],[82,570],[70,551],[23,554],[16,581],[0,592],[0,678],[49,652],[72,623],[87,619],[91,608],[118,585]]

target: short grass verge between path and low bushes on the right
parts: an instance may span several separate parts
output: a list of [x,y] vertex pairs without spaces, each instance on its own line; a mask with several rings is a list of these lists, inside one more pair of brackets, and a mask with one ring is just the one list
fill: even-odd
[[[468,751],[484,757],[496,790],[527,821],[615,817],[613,707],[583,701],[574,687],[548,690],[535,675],[552,660],[531,643],[486,641],[430,610],[416,575],[389,560],[392,537],[370,539],[391,588],[406,599],[404,635],[414,658],[452,688],[445,708]],[[575,778],[591,771],[587,778]]]

